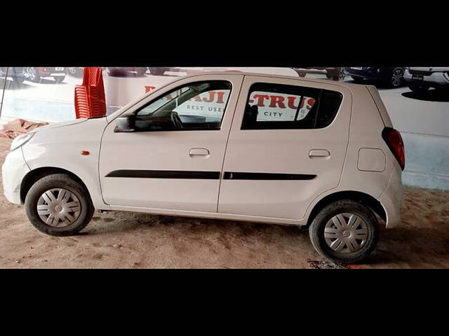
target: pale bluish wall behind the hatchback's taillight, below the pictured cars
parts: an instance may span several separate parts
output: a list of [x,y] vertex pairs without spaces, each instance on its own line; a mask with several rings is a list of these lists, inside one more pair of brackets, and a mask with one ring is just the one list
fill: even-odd
[[410,99],[406,91],[380,93],[406,147],[403,183],[449,190],[449,102]]

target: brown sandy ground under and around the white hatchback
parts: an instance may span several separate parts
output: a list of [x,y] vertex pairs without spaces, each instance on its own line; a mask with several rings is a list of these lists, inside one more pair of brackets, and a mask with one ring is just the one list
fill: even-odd
[[[11,141],[0,139],[0,165]],[[449,192],[406,188],[401,227],[382,230],[366,264],[349,268],[449,267]],[[307,230],[198,218],[107,213],[75,237],[32,228],[0,183],[1,268],[341,268],[314,251]]]

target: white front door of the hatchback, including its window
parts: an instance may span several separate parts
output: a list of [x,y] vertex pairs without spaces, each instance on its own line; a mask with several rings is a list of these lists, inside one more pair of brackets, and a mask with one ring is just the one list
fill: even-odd
[[220,173],[242,75],[184,78],[126,113],[135,132],[106,127],[100,181],[118,207],[217,212]]

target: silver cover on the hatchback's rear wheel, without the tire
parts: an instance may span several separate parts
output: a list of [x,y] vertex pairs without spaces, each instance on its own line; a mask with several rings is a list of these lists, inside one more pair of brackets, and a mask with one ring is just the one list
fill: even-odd
[[326,244],[335,252],[354,253],[368,239],[368,227],[362,218],[354,214],[338,214],[330,218],[324,228]]

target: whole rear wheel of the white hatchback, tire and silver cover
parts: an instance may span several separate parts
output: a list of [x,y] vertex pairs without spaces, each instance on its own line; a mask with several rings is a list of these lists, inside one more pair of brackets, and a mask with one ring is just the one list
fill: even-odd
[[373,211],[352,200],[329,204],[309,227],[310,240],[316,251],[337,263],[366,259],[377,244],[379,232]]

